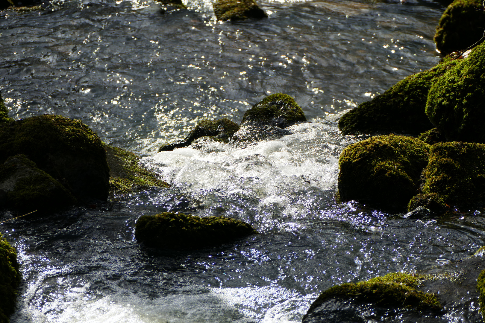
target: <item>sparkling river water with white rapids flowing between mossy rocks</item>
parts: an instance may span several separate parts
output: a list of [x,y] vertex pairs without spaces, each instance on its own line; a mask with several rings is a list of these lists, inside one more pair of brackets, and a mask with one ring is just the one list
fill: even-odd
[[[334,200],[339,154],[361,139],[339,133],[339,113],[438,62],[441,4],[262,1],[268,19],[235,23],[217,22],[209,1],[187,4],[165,14],[137,0],[0,11],[10,116],[81,119],[172,185],[2,224],[23,273],[13,323],[300,322],[335,284],[442,266],[484,245],[480,210],[416,220]],[[201,119],[239,123],[276,92],[310,121],[292,135],[156,153]],[[189,252],[140,246],[137,217],[162,211],[226,215],[260,233]],[[469,310],[433,322],[475,322]]]

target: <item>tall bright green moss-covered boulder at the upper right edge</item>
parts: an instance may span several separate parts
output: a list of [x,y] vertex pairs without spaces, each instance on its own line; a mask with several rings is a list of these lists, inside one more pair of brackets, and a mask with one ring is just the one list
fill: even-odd
[[485,143],[485,43],[431,86],[426,115],[447,141]]

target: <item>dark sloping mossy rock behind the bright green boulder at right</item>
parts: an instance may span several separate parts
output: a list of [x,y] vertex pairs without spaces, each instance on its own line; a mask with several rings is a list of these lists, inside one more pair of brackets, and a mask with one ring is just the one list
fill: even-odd
[[448,60],[413,74],[371,101],[360,104],[339,120],[344,135],[403,133],[419,135],[433,128],[425,114],[428,91],[437,77],[456,62]]

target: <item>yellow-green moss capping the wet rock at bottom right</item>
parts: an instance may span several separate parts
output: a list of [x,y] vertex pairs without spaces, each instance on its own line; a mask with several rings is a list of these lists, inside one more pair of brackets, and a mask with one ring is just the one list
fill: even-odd
[[[412,309],[441,309],[435,294],[418,291],[425,275],[391,273],[357,283],[343,283],[320,294],[308,312],[331,298],[353,299],[383,307],[405,307]],[[305,318],[304,318],[305,319]]]

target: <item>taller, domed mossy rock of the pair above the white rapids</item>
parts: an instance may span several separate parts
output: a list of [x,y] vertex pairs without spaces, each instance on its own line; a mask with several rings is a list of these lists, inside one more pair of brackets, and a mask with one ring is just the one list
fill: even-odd
[[286,128],[298,122],[307,122],[303,110],[288,94],[268,95],[244,113],[241,125],[246,123],[270,124]]

